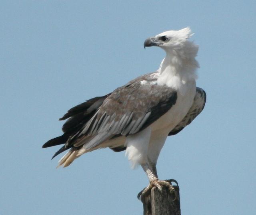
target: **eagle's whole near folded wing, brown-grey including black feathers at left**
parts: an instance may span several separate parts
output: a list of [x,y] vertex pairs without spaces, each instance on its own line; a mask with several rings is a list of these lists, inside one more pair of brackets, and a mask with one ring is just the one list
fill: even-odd
[[62,127],[64,134],[49,140],[43,148],[65,144],[56,156],[68,148],[90,149],[116,136],[143,130],[166,113],[177,99],[177,93],[169,87],[140,83],[148,79],[144,75],[113,93],[71,108],[60,118],[69,118]]

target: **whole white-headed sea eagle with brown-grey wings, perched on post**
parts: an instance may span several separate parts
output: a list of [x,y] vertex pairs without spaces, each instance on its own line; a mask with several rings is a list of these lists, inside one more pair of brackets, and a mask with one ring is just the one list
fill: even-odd
[[68,110],[60,118],[68,119],[62,127],[64,134],[42,146],[64,144],[53,158],[69,150],[58,166],[66,167],[99,148],[126,150],[132,167],[142,166],[150,181],[142,194],[153,186],[162,190],[162,185],[174,191],[170,183],[158,179],[158,156],[166,138],[190,124],[206,102],[206,93],[196,87],[198,45],[189,40],[192,35],[187,27],[146,39],[144,48],[157,46],[166,52],[157,71]]

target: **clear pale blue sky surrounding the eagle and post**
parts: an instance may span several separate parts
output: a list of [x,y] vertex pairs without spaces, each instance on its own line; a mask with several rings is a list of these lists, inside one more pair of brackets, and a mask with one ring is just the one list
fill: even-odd
[[183,215],[256,214],[255,1],[1,1],[0,214],[142,214],[148,185],[124,152],[97,150],[55,169],[66,110],[158,69],[144,40],[190,26],[203,112],[169,137],[160,179]]

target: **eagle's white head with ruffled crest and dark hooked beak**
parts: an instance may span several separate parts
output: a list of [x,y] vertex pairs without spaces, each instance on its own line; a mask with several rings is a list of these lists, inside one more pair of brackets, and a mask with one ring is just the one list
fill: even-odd
[[[195,57],[198,45],[188,39],[193,35],[190,28],[183,28],[179,31],[167,31],[154,37],[149,37],[144,42],[144,48],[148,46],[158,46],[170,54],[186,55],[184,57]],[[190,56],[188,56],[190,55]],[[192,55],[192,56],[191,56]]]

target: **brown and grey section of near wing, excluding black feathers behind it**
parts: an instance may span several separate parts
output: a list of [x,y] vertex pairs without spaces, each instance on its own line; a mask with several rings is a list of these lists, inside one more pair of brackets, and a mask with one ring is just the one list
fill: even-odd
[[113,136],[137,133],[176,103],[177,93],[169,87],[141,85],[140,81],[116,89],[67,145],[91,149]]

